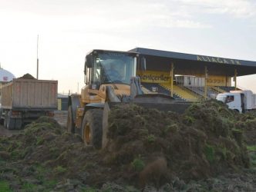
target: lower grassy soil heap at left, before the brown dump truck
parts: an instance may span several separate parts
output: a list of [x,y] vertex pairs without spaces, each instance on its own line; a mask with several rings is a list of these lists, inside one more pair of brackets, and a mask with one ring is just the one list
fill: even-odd
[[22,134],[0,137],[0,151],[0,180],[12,180],[15,191],[52,190],[61,180],[83,180],[83,161],[93,156],[78,135],[66,133],[48,117],[28,124]]

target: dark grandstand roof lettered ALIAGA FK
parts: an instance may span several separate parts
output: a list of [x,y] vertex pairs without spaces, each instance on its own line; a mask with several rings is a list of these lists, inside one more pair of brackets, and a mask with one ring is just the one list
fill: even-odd
[[235,69],[237,76],[256,74],[256,61],[192,55],[148,48],[134,48],[130,51],[145,56],[150,70],[155,71],[170,71],[170,64],[173,62],[175,74],[204,74],[205,66],[207,66],[208,74],[211,75],[233,77]]

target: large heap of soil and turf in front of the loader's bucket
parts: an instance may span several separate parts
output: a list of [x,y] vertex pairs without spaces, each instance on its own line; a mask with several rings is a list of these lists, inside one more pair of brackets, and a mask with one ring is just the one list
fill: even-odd
[[[134,104],[116,106],[109,118],[105,161],[122,166],[130,174],[127,179],[136,182],[140,171],[162,157],[167,171],[146,178],[157,185],[172,177],[201,179],[248,167],[244,137],[234,124],[237,115],[217,101],[193,104],[183,115]],[[157,166],[152,170],[161,169]]]

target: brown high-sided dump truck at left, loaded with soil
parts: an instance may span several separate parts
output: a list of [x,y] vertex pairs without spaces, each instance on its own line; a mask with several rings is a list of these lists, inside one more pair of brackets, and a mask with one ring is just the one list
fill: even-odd
[[14,78],[0,89],[0,118],[7,129],[21,129],[57,109],[58,81]]

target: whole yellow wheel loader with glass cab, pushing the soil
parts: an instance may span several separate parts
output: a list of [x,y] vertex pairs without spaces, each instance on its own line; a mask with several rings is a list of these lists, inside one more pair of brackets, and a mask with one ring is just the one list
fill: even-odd
[[80,134],[84,143],[100,149],[108,142],[108,115],[116,104],[134,103],[144,108],[183,112],[189,103],[166,94],[144,94],[139,71],[146,59],[130,51],[93,50],[86,55],[85,84],[68,102],[67,130]]

